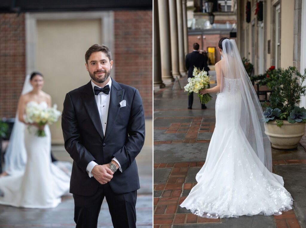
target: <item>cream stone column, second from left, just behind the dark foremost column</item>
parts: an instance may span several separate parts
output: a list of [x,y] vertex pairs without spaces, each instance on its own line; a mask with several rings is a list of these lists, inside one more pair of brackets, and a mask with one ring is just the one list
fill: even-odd
[[159,38],[162,62],[162,79],[174,81],[171,74],[171,44],[168,1],[158,0]]

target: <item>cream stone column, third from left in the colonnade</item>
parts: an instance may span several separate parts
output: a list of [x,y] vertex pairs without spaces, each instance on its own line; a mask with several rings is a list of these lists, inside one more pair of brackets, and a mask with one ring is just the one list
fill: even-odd
[[178,60],[177,11],[176,0],[169,0],[171,60],[173,77],[181,77]]

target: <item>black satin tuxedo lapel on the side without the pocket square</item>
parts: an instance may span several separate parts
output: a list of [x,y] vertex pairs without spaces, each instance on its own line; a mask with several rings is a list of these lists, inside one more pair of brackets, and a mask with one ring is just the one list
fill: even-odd
[[95,100],[95,94],[92,90],[91,82],[89,82],[85,86],[83,92],[81,93],[81,97],[82,97],[84,106],[87,110],[87,113],[89,117],[91,118],[92,123],[94,124],[95,128],[99,132],[99,135],[101,136],[101,138],[104,139],[102,123],[101,123],[97,103]]

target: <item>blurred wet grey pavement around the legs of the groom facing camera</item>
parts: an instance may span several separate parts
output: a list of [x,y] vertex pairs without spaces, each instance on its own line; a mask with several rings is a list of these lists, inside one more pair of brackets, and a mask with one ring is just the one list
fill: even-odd
[[[63,146],[53,146],[54,156],[60,161],[72,161]],[[151,228],[152,218],[152,146],[144,146],[136,157],[140,174],[137,191],[137,228]],[[150,167],[150,168],[148,168]],[[74,228],[74,201],[72,194],[62,197],[62,203],[53,209],[27,209],[0,205],[0,227]],[[104,199],[98,220],[99,228],[113,227],[107,202]]]

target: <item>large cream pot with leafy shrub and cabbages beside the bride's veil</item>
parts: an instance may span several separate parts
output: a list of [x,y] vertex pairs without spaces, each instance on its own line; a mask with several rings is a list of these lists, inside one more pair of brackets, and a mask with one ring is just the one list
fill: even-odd
[[305,79],[306,68],[304,75],[295,67],[267,72],[266,82],[272,92],[270,100],[263,104],[268,130],[265,133],[275,149],[294,149],[304,135],[306,109],[298,105],[306,94]]

